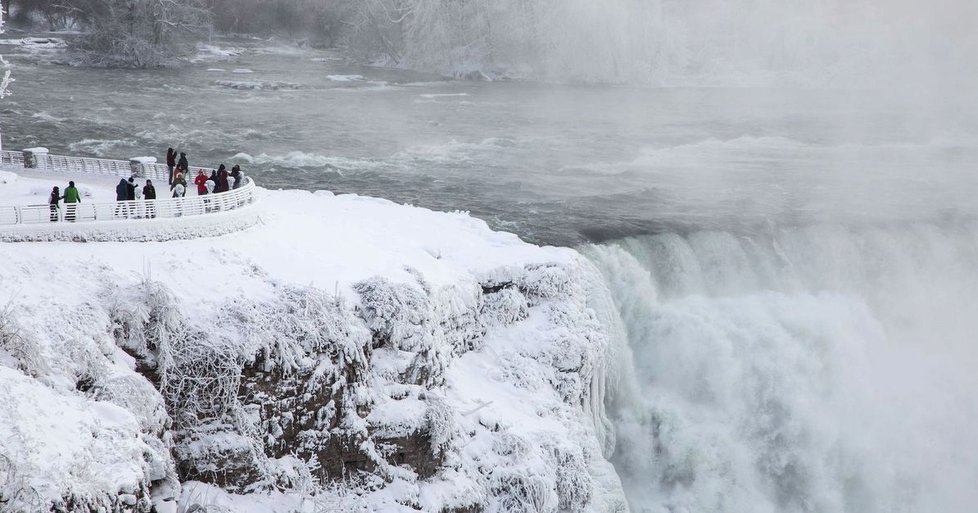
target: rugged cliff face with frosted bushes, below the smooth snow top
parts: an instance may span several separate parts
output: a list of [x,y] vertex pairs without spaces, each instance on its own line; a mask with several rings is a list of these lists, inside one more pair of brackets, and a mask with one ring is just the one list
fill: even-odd
[[[25,494],[71,511],[163,510],[195,481],[343,496],[351,510],[625,510],[594,396],[610,379],[611,341],[588,306],[583,260],[449,286],[408,274],[341,297],[255,269],[267,293],[214,311],[147,279],[66,310],[81,319],[67,338],[57,323],[8,312],[18,327],[0,330],[8,367],[70,378],[59,393],[127,412],[141,456],[131,458],[139,471],[123,472],[129,487],[85,483],[52,496],[8,472],[0,500],[11,511],[28,510]],[[66,348],[85,358],[65,361]]]

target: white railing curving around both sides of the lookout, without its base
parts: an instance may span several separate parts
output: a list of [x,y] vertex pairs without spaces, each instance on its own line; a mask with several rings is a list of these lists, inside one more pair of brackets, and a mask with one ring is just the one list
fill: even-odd
[[[133,175],[132,166],[124,160],[90,159],[84,157],[64,157],[47,155],[38,162],[37,170],[56,172],[75,172],[107,174],[121,177]],[[0,151],[0,163],[7,166],[23,166],[24,155],[21,152]],[[43,167],[42,167],[43,166]],[[141,177],[160,180],[165,183],[169,169],[160,164],[140,164],[144,174]],[[191,168],[191,170],[210,171],[209,168]],[[191,186],[192,187],[192,186]],[[210,213],[234,210],[253,203],[256,199],[255,182],[244,177],[243,183],[237,189],[227,192],[204,194],[200,196],[183,196],[176,198],[161,198],[155,200],[132,200],[112,202],[81,202],[62,203],[53,208],[51,205],[0,205],[0,225],[10,224],[43,224],[53,222],[93,222],[122,219],[166,219],[186,216],[199,216]],[[168,192],[166,188],[164,193]]]

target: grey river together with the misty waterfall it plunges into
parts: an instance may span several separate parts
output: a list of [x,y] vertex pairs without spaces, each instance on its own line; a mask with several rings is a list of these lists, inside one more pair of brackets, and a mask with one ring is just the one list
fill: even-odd
[[335,54],[168,71],[10,48],[4,146],[185,150],[268,187],[469,210],[584,252],[631,355],[636,511],[978,503],[978,123],[939,89],[447,81]]

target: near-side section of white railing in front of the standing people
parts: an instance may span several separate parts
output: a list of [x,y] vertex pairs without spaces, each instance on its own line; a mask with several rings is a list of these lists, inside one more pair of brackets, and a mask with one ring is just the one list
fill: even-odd
[[245,177],[244,185],[228,192],[156,200],[63,203],[50,205],[0,206],[0,225],[40,224],[60,221],[90,222],[120,219],[166,219],[226,212],[255,201],[255,182]]

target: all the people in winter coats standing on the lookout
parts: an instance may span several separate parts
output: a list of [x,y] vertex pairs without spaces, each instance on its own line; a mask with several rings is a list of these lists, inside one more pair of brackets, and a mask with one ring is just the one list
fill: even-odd
[[[177,158],[179,155],[179,158]],[[173,198],[182,198],[187,194],[187,172],[190,169],[190,164],[187,161],[187,154],[174,151],[173,148],[169,148],[166,151],[166,165],[169,168],[169,185],[170,193]],[[203,196],[205,194],[227,192],[231,189],[237,189],[241,186],[244,181],[244,173],[241,172],[241,167],[235,165],[228,172],[224,164],[221,164],[216,170],[212,170],[210,176],[204,174],[203,169],[197,170],[197,176],[194,178],[194,185],[197,186],[197,195]],[[119,180],[119,184],[115,188],[115,199],[119,202],[125,201],[135,201],[140,199],[144,200],[155,200],[156,199],[156,187],[153,185],[152,180],[146,180],[146,185],[141,188],[136,184],[134,177],[130,177],[128,180],[122,178]],[[76,214],[75,204],[81,203],[81,193],[79,193],[78,188],[75,187],[75,182],[68,182],[68,187],[65,188],[64,194],[58,187],[54,187],[51,190],[51,196],[48,198],[48,204],[51,208],[51,221],[58,220],[58,210],[60,209],[61,202],[65,203],[65,221],[74,221]],[[207,200],[205,200],[205,204]],[[133,205],[129,203],[119,203],[116,207],[115,215],[117,217],[130,217],[133,215],[134,209]],[[156,209],[152,202],[146,204],[146,217],[156,217]]]

